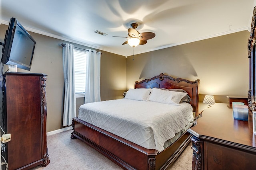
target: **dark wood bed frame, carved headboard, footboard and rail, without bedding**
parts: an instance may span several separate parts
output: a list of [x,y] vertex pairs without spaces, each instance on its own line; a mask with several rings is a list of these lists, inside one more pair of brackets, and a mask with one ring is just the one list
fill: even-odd
[[[140,82],[136,81],[134,88],[182,88],[192,101],[190,104],[198,117],[199,107],[199,80],[190,81],[182,78],[172,78],[161,73],[150,79]],[[100,129],[90,123],[82,121],[77,117],[72,121],[73,132],[71,139],[80,139],[98,150],[104,156],[118,164],[121,168],[128,170],[159,170],[170,166],[181,152],[190,143],[191,135],[186,132],[171,146],[159,152],[155,149],[145,149],[126,139],[118,137],[108,131]]]

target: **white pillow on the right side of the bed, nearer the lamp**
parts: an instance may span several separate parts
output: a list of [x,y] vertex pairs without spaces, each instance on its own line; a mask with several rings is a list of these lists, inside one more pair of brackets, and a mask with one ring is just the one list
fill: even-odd
[[187,93],[184,92],[175,92],[153,88],[150,96],[148,97],[148,100],[152,102],[174,104],[180,106],[180,100],[186,95]]

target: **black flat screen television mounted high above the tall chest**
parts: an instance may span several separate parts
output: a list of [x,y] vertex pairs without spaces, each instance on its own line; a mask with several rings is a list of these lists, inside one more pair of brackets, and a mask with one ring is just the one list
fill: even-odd
[[14,64],[17,68],[30,70],[35,45],[36,41],[28,31],[16,18],[11,18],[4,37],[1,63]]

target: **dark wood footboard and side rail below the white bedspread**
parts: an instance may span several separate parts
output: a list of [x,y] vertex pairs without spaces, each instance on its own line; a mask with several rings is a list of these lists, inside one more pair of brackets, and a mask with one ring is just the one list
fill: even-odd
[[128,170],[159,170],[165,169],[176,160],[190,142],[191,135],[184,133],[180,139],[162,152],[146,149],[86,123],[77,117],[73,119],[74,137],[84,141],[98,152]]

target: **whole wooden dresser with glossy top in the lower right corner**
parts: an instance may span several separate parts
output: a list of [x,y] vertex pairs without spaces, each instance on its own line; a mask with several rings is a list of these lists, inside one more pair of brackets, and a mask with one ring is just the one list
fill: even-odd
[[248,121],[233,119],[232,106],[216,103],[202,112],[193,135],[193,170],[256,169],[256,135],[252,132],[252,113]]

